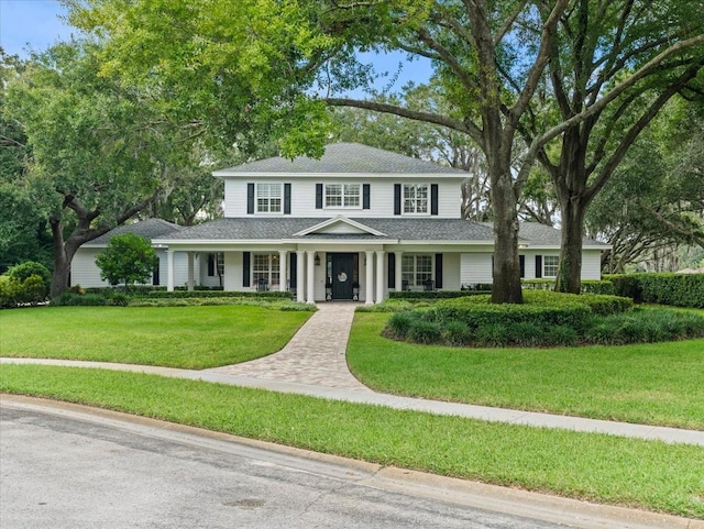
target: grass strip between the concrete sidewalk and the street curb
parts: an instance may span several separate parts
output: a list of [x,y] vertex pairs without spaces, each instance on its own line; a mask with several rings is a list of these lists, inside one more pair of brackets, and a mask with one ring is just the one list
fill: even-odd
[[154,375],[2,365],[44,396],[384,465],[704,518],[704,449],[394,410]]

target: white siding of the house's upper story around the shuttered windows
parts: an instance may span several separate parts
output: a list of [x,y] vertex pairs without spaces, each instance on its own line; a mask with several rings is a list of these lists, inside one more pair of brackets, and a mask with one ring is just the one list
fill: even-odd
[[[405,184],[411,180],[404,175],[394,177],[376,176],[373,178],[334,178],[334,177],[295,177],[295,178],[227,178],[224,185],[224,216],[245,217],[246,213],[246,185],[250,181],[280,181],[292,185],[292,217],[394,217],[394,185]],[[370,209],[360,208],[322,208],[316,209],[316,184],[370,184]],[[438,184],[438,218],[460,218],[460,180],[458,178],[414,178],[413,183]],[[360,196],[360,200],[362,197]],[[268,213],[270,217],[280,217],[280,213]]]

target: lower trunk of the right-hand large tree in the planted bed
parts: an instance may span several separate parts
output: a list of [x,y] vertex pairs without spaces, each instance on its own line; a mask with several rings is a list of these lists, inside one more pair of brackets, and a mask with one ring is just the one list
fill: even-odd
[[582,239],[584,214],[588,202],[581,197],[560,197],[562,209],[562,240],[560,267],[554,289],[559,293],[580,294],[582,287]]

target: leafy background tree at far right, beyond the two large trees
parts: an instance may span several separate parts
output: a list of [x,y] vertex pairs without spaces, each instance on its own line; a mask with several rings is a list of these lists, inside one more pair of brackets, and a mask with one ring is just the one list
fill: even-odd
[[670,101],[594,199],[586,230],[613,246],[609,273],[704,246],[704,104]]

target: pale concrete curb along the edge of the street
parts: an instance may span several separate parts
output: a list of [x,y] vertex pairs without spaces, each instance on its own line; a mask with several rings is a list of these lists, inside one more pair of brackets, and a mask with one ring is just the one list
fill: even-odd
[[102,423],[129,430],[135,434],[143,433],[145,428],[158,429],[162,432],[162,437],[175,442],[201,444],[205,440],[210,448],[229,453],[238,450],[240,455],[243,455],[241,448],[244,448],[243,456],[245,458],[254,458],[257,453],[266,451],[277,454],[277,464],[289,465],[306,472],[311,472],[312,469],[315,473],[341,481],[353,481],[384,491],[506,513],[553,524],[565,524],[582,529],[704,529],[704,520],[592,504],[398,467],[383,467],[374,463],[310,452],[89,406],[0,394],[0,407],[35,410],[92,423]]

